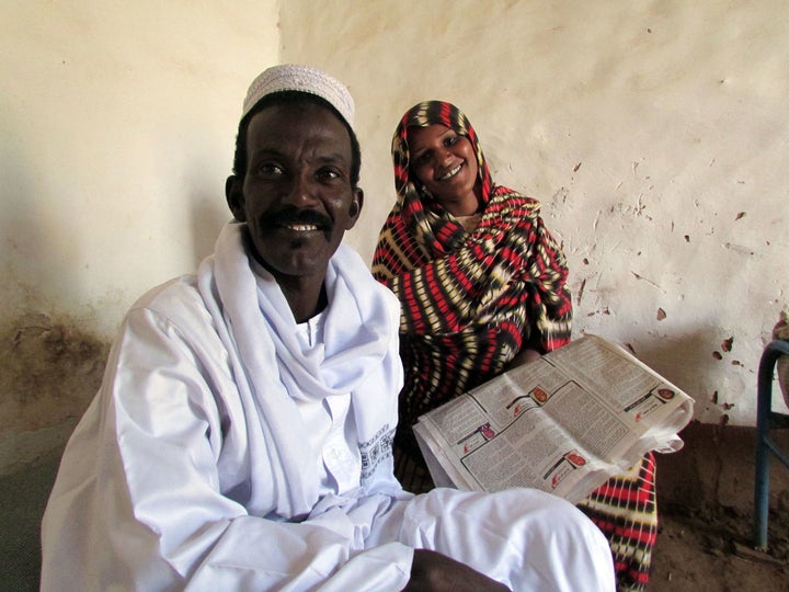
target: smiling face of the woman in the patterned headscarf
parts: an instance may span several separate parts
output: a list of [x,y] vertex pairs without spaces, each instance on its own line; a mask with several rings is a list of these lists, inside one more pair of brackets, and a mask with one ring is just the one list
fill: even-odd
[[411,170],[450,214],[468,216],[479,209],[477,155],[471,141],[441,124],[409,127]]

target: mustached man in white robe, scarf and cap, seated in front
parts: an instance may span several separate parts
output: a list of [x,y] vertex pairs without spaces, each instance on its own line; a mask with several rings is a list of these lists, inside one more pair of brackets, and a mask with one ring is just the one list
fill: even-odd
[[395,479],[399,307],[341,242],[352,125],[323,72],[252,83],[235,221],[125,319],[44,516],[44,590],[613,589],[569,503]]

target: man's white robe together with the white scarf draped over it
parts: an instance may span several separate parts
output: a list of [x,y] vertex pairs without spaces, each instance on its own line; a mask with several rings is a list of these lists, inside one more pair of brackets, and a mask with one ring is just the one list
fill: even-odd
[[[127,315],[45,512],[42,590],[395,591],[413,548],[513,590],[614,589],[605,538],[558,498],[402,491],[396,298],[341,246],[305,356],[243,236],[229,224],[196,276]],[[343,397],[342,437],[312,451],[299,401]]]

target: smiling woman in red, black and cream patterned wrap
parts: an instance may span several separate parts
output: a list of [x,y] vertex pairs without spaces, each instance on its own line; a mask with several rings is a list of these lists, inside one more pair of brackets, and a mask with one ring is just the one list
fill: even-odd
[[[570,341],[564,255],[540,204],[491,179],[477,134],[449,103],[419,103],[392,139],[397,203],[373,273],[402,304],[396,446],[420,458],[419,415]],[[651,454],[580,506],[609,538],[620,590],[649,580],[658,530]]]

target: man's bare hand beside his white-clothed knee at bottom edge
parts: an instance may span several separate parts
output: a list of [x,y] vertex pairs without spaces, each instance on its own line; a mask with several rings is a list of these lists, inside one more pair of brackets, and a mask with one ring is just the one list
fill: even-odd
[[415,549],[403,592],[504,592],[510,589],[446,555]]

